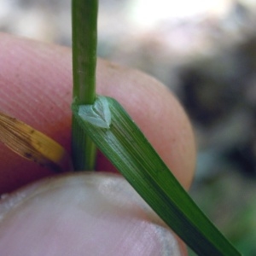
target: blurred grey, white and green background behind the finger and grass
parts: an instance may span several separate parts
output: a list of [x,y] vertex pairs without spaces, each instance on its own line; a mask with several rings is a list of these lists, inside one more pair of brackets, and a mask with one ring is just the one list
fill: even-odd
[[[177,95],[198,144],[190,194],[256,255],[256,1],[99,2],[98,55]],[[70,0],[0,0],[1,32],[70,46],[70,20]]]

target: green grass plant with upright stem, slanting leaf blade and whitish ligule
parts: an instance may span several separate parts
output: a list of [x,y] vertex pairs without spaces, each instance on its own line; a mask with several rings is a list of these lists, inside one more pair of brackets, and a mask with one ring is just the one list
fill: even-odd
[[[89,137],[195,253],[240,255],[195,205],[119,102],[96,96],[97,5],[97,0],[73,0],[73,155],[79,152],[90,159],[84,148]],[[89,101],[80,95],[87,92]]]

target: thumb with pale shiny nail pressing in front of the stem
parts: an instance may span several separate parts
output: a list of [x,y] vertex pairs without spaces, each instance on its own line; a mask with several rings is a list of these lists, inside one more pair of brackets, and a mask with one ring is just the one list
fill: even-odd
[[123,177],[44,179],[3,198],[2,255],[184,255],[179,242]]

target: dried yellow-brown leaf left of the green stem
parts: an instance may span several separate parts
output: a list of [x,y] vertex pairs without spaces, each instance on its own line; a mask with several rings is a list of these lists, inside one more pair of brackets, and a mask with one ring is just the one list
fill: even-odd
[[16,154],[55,172],[73,169],[70,156],[59,143],[4,113],[0,113],[0,141]]

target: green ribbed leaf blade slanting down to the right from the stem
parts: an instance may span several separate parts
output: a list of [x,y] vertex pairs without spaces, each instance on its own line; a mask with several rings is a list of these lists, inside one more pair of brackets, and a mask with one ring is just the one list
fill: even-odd
[[[98,105],[109,108],[109,128],[84,116],[84,113],[90,113],[90,118],[94,116],[95,119],[105,116]],[[98,112],[93,109],[98,109]],[[73,117],[137,193],[195,253],[204,256],[240,255],[195,205],[118,102],[99,96],[93,107],[73,104]]]

